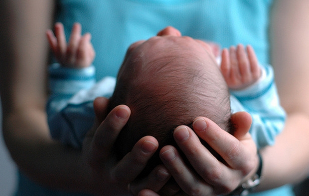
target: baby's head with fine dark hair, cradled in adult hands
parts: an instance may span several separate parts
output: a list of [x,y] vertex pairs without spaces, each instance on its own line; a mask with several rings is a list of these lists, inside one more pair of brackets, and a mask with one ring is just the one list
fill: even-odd
[[[190,126],[198,116],[224,130],[231,128],[228,87],[215,58],[205,43],[189,37],[157,36],[133,44],[118,73],[109,108],[120,104],[131,109],[116,142],[120,157],[146,135],[158,140],[159,149],[173,145],[173,130]],[[158,163],[154,155],[149,164]]]

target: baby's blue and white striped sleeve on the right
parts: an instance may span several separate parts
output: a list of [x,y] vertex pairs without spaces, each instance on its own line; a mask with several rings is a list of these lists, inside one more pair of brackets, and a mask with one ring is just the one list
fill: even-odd
[[232,112],[247,111],[252,116],[250,133],[258,148],[274,144],[286,119],[286,113],[280,105],[273,68],[271,65],[264,65],[263,68],[265,75],[262,79],[246,89],[231,92]]

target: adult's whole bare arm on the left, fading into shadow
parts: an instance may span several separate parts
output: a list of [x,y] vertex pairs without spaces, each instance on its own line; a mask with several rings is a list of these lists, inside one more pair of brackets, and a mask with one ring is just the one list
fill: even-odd
[[82,161],[79,153],[53,141],[47,127],[45,31],[52,23],[53,3],[0,3],[5,18],[0,20],[3,137],[11,157],[28,177],[54,188],[82,190],[87,187],[87,170],[77,164]]

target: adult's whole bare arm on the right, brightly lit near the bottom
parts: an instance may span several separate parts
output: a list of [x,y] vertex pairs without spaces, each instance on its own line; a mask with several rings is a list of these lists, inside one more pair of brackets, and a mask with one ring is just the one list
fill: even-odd
[[271,57],[287,121],[263,152],[260,189],[296,183],[309,174],[309,1],[277,0],[271,18]]

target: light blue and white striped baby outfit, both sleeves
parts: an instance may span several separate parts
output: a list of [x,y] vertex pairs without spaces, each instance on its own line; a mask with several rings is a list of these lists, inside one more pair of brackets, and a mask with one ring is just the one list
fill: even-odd
[[[258,148],[272,145],[284,127],[285,112],[280,106],[270,65],[261,66],[262,78],[241,91],[231,92],[232,113],[249,112],[253,122],[250,133]],[[95,67],[83,69],[49,68],[51,97],[47,104],[47,117],[53,138],[75,148],[81,148],[84,135],[94,122],[93,100],[110,98],[116,78],[104,77],[95,84]]]

